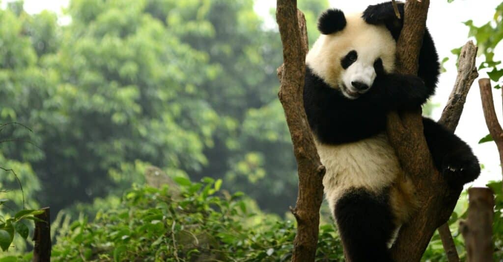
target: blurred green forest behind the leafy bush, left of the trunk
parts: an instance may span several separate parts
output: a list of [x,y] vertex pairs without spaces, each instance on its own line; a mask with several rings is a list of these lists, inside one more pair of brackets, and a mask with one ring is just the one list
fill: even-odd
[[[312,27],[328,7],[301,4]],[[31,130],[4,127],[2,140],[13,141],[0,163],[16,170],[27,205],[57,213],[117,195],[155,165],[223,178],[285,213],[297,176],[276,95],[281,42],[253,5],[74,0],[68,25],[29,15],[22,2],[1,10],[0,123]],[[0,182],[18,188],[13,176]]]

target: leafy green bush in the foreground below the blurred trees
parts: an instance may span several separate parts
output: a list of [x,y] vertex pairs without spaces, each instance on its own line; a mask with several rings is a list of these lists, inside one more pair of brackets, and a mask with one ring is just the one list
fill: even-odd
[[[181,191],[134,186],[94,222],[80,217],[60,230],[53,261],[287,261],[294,224],[260,212],[242,193],[219,191],[221,180],[175,181]],[[174,193],[180,192],[180,193]],[[316,261],[342,261],[331,224],[320,227]]]

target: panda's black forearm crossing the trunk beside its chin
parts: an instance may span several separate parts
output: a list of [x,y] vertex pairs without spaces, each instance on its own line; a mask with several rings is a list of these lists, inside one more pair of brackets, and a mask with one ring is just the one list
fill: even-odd
[[384,110],[413,110],[421,106],[434,90],[414,75],[378,74],[369,92],[362,95],[364,103]]

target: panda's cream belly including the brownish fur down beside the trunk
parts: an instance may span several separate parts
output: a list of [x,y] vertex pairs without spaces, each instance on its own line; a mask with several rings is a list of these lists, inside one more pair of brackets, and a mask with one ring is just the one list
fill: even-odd
[[386,133],[342,145],[316,142],[321,163],[325,197],[334,214],[337,201],[355,189],[376,196],[387,194],[395,224],[405,222],[416,208],[414,188],[404,175]]

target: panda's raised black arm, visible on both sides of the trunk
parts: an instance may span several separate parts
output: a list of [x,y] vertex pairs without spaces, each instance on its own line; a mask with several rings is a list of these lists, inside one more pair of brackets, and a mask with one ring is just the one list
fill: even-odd
[[[363,12],[362,18],[365,22],[372,25],[384,24],[393,38],[398,40],[400,31],[403,27],[404,4],[397,3],[397,6],[400,19],[396,17],[391,2],[369,6],[365,12]],[[426,29],[425,36],[423,37],[423,46],[419,53],[419,69],[417,75],[425,81],[426,86],[431,88],[434,88],[438,82],[438,76],[440,74],[440,63],[438,60],[439,56],[435,44],[433,43],[432,36],[428,29]]]

